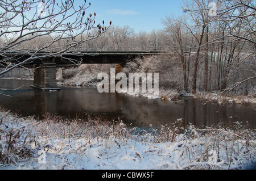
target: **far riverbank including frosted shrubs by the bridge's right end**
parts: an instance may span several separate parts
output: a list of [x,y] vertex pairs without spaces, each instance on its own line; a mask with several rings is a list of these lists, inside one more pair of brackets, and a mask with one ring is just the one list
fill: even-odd
[[[122,69],[123,73],[129,72],[141,73],[141,72],[158,72],[161,74],[159,77],[159,95],[155,96],[147,93],[135,93],[135,92],[123,92],[135,97],[143,96],[149,99],[162,99],[170,102],[179,102],[180,96],[191,96],[196,99],[204,100],[204,102],[214,101],[215,103],[225,104],[226,102],[235,104],[256,104],[256,95],[236,95],[236,94],[220,94],[220,92],[203,92],[197,91],[196,94],[185,92],[180,90],[180,85],[175,81],[175,76],[170,77],[168,70],[163,71],[165,64],[160,64],[157,57],[137,58],[133,62],[127,62],[125,68]],[[154,60],[154,61],[153,61]],[[165,62],[165,61],[164,61]],[[160,66],[160,68],[159,68]],[[100,65],[100,64],[83,64],[78,68],[58,69],[56,73],[57,85],[65,86],[86,86],[97,87],[100,82],[97,79],[99,73],[109,73],[110,68],[114,68],[115,65]]]

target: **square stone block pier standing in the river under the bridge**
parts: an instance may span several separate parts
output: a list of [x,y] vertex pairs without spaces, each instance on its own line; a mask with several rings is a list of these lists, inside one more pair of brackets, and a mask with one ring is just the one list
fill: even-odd
[[44,63],[34,65],[34,85],[31,87],[44,91],[60,90],[60,88],[57,88],[56,64]]

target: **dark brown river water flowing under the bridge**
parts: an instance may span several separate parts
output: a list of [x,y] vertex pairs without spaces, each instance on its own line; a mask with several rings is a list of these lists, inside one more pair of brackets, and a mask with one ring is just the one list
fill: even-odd
[[[49,112],[52,115],[67,118],[81,118],[86,114],[103,116],[108,119],[122,120],[133,127],[159,127],[160,125],[174,123],[183,118],[184,124],[192,123],[197,127],[228,124],[232,121],[249,122],[251,128],[255,127],[256,111],[251,105],[207,103],[203,105],[200,100],[186,98],[181,103],[164,102],[160,99],[133,98],[118,93],[100,94],[96,88],[60,86],[60,91],[41,91],[32,89],[33,81],[0,79],[1,89],[16,88],[19,90],[1,91],[0,105],[22,116],[36,115],[42,117]],[[255,105],[254,105],[255,106]]]

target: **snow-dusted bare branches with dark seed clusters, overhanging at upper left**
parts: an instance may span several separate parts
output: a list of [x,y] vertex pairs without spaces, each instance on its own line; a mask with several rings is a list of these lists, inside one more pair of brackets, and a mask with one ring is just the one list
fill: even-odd
[[75,0],[0,1],[0,64],[5,66],[0,75],[38,59],[79,53],[86,41],[109,28],[96,24],[89,7],[90,2],[77,5]]

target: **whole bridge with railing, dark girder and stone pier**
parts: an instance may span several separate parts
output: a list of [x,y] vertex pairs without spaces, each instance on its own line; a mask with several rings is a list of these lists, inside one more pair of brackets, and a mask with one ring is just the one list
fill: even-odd
[[[31,57],[31,61],[26,62],[23,66],[34,68],[34,85],[32,87],[41,90],[60,90],[56,85],[56,68],[70,64],[125,64],[135,57],[151,56],[154,54],[170,53],[172,51],[164,51],[152,47],[83,47],[77,50],[69,50],[67,53],[58,54],[56,49],[46,50],[44,52],[15,50],[5,53],[4,57],[0,57],[0,66],[6,67],[10,62],[19,64]],[[56,55],[55,55],[56,54]],[[51,56],[49,56],[51,55]]]

